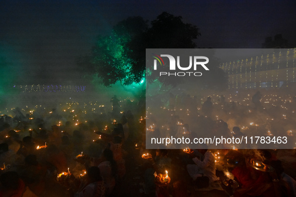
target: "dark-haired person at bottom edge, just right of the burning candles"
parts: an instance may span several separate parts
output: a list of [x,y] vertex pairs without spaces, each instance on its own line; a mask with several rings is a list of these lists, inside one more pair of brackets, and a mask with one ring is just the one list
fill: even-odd
[[105,196],[104,181],[100,173],[100,168],[91,166],[87,169],[86,183],[76,193],[76,197],[100,197]]

